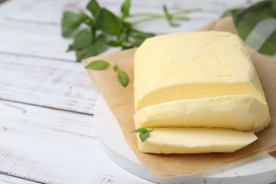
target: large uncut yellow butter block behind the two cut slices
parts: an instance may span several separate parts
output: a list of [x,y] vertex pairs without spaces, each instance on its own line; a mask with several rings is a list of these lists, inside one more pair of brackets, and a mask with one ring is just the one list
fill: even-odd
[[215,31],[146,39],[134,56],[134,106],[173,100],[248,94],[265,101],[246,47]]

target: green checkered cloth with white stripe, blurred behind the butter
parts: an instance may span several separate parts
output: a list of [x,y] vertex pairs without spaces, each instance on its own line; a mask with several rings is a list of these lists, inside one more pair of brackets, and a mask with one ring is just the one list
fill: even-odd
[[248,8],[226,11],[232,16],[238,35],[261,54],[276,57],[276,1],[260,1]]

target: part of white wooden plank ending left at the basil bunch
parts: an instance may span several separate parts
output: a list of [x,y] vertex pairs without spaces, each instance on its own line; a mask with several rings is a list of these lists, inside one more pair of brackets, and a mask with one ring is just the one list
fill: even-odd
[[0,52],[75,61],[60,33],[57,25],[0,21]]

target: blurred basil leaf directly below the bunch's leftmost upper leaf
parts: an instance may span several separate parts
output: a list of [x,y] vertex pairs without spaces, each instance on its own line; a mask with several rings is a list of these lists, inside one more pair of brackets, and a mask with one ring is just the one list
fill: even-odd
[[69,45],[67,51],[79,50],[84,47],[91,45],[93,35],[90,29],[81,30],[74,38],[73,44]]

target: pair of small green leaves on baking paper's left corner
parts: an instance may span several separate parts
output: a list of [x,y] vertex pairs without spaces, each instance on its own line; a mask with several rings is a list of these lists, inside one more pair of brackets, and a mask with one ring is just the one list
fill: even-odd
[[[93,69],[93,70],[104,70],[104,69],[108,69],[108,67],[110,67],[110,63],[109,62],[105,62],[103,60],[96,60],[93,61],[91,63],[89,63],[86,66],[86,69]],[[117,79],[119,80],[120,84],[125,88],[127,87],[127,85],[129,84],[130,78],[127,75],[127,73],[125,71],[122,71],[117,62],[116,64],[113,66],[113,70],[116,72],[117,74]]]

